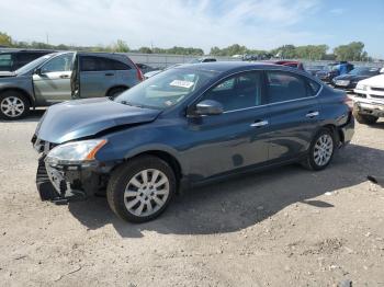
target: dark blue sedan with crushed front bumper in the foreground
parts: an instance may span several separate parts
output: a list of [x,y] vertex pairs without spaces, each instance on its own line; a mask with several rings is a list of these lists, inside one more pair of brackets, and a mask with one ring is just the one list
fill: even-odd
[[43,200],[106,192],[121,218],[159,216],[183,186],[300,162],[318,171],[353,135],[348,97],[297,69],[184,65],[115,99],[54,105],[32,139]]

